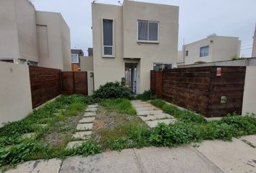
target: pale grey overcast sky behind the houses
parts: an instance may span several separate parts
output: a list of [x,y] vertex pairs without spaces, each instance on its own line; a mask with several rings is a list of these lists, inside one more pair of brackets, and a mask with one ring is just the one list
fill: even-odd
[[[71,32],[72,48],[93,47],[91,30],[93,0],[33,0],[40,11],[61,12]],[[241,56],[252,54],[252,37],[256,22],[255,0],[137,0],[179,6],[179,49],[216,33],[239,37]],[[98,0],[98,3],[118,4],[118,0]],[[122,0],[121,0],[122,3]]]

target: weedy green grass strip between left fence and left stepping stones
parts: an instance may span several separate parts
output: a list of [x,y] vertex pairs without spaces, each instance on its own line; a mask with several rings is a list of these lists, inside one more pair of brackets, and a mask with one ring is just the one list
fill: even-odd
[[[60,156],[84,112],[88,97],[61,96],[23,120],[0,128],[0,167]],[[46,124],[46,127],[40,124]],[[25,133],[35,133],[31,139]]]

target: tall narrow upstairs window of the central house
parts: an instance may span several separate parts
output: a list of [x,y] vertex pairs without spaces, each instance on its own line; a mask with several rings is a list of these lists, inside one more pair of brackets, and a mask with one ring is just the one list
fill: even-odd
[[103,56],[114,56],[113,19],[103,19]]

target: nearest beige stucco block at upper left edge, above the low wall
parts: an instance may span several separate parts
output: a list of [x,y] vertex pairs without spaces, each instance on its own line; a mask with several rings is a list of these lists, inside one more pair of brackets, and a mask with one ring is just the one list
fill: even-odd
[[0,58],[38,62],[33,6],[26,0],[1,0],[0,21]]

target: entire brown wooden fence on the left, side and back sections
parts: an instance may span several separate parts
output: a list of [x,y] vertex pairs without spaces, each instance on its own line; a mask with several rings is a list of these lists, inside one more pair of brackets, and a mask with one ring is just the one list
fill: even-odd
[[29,66],[33,109],[60,94],[88,95],[86,71],[65,72],[54,68]]

